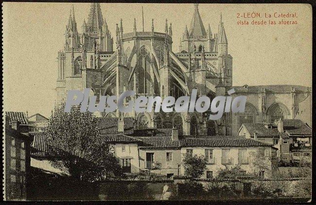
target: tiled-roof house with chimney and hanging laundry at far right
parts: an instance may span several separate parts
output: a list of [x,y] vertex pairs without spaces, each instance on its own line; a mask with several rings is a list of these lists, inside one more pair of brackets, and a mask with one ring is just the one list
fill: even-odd
[[244,123],[238,135],[273,144],[279,160],[311,159],[312,129],[302,120],[284,119],[274,123]]

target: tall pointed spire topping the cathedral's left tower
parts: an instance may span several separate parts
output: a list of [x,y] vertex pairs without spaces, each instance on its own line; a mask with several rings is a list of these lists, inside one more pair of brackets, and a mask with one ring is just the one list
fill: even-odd
[[100,3],[91,3],[90,13],[88,17],[88,29],[90,32],[99,32],[102,29],[103,17],[101,12]]

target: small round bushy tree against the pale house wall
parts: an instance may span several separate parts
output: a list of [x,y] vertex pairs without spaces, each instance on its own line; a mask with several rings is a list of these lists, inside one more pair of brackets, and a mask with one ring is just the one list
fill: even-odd
[[207,161],[204,156],[186,154],[183,159],[184,174],[199,178],[206,170]]

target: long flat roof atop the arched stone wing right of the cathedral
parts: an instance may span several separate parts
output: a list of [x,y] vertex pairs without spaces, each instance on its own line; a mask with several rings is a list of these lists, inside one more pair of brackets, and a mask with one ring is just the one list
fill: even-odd
[[290,91],[294,88],[296,91],[311,91],[310,87],[301,86],[301,85],[243,85],[243,86],[232,86],[235,88],[235,92],[256,92],[256,91]]

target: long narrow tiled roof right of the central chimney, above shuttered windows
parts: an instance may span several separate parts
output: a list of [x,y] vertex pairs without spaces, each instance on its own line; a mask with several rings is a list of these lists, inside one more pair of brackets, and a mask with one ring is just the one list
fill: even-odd
[[181,147],[271,147],[272,144],[253,139],[201,139],[184,138],[180,140]]

